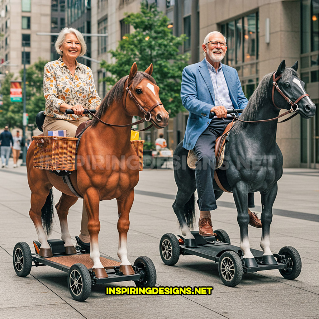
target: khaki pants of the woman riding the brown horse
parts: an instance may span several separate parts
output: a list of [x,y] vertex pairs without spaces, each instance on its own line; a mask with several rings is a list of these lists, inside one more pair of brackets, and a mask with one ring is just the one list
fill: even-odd
[[[78,126],[81,123],[87,121],[88,119],[89,118],[87,116],[81,116],[78,121],[68,121],[68,120],[60,120],[51,116],[46,116],[42,126],[43,135],[47,136],[48,131],[66,130],[67,137],[74,137]],[[83,242],[90,242],[90,235],[87,230],[87,222],[88,222],[87,212],[85,210],[84,203],[83,203],[81,232],[79,234],[79,237],[81,241]]]

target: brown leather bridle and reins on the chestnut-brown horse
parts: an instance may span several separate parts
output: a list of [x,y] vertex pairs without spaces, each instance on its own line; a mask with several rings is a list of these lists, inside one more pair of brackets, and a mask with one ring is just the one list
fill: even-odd
[[[127,98],[127,95],[129,94],[129,97],[134,101],[134,103],[136,104],[136,106],[139,108],[139,110],[144,114],[144,118],[142,118],[141,120],[138,120],[134,123],[130,123],[130,124],[125,124],[125,125],[118,125],[118,124],[110,124],[110,123],[106,123],[104,121],[102,121],[100,118],[98,118],[95,114],[93,114],[92,112],[90,112],[89,110],[86,110],[88,113],[90,113],[94,118],[96,118],[99,122],[105,124],[105,125],[109,125],[109,126],[116,126],[116,127],[127,127],[127,126],[133,126],[133,125],[137,125],[137,124],[140,124],[140,123],[143,123],[143,122],[149,122],[152,120],[152,115],[151,115],[151,112],[154,108],[156,108],[157,106],[159,105],[163,105],[163,103],[155,103],[154,105],[152,105],[148,111],[145,111],[145,109],[138,103],[138,101],[135,99],[135,97],[133,96],[132,92],[130,91],[130,88],[129,86],[132,84],[133,82],[133,79],[130,80],[129,82],[129,79],[127,79],[127,85],[125,87],[125,90],[126,90],[126,95],[125,95],[125,102],[124,102],[124,108],[126,110],[126,98]],[[163,105],[164,106],[164,105]],[[149,125],[148,127],[146,127],[145,129],[142,129],[142,130],[135,130],[133,128],[131,128],[131,130],[134,130],[134,131],[137,131],[137,132],[142,132],[142,131],[146,131],[148,129],[150,129],[151,127],[153,126],[153,124]],[[159,126],[159,125],[158,125]],[[159,126],[161,127],[161,126]]]

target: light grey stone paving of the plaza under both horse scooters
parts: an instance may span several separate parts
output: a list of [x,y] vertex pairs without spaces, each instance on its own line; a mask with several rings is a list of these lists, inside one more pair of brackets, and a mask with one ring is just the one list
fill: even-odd
[[[172,169],[145,169],[135,188],[130,212],[128,256],[131,263],[138,256],[152,259],[157,271],[157,286],[213,286],[211,295],[134,296],[105,295],[105,287],[93,286],[84,302],[72,299],[67,273],[57,269],[32,267],[21,278],[12,265],[12,251],[19,241],[26,241],[31,251],[37,233],[29,218],[30,190],[26,167],[0,169],[0,317],[58,318],[319,318],[319,245],[318,245],[318,171],[302,168],[284,169],[278,182],[271,224],[271,250],[293,246],[300,253],[302,270],[295,280],[284,279],[278,270],[244,274],[236,287],[222,284],[216,263],[197,256],[180,256],[174,266],[165,265],[159,255],[163,234],[181,234],[172,209],[176,185]],[[54,190],[55,203],[60,192]],[[260,216],[260,195],[255,196]],[[237,212],[232,194],[223,194],[212,212],[214,229],[224,229],[232,244],[240,244]],[[80,228],[82,200],[71,207],[69,229],[72,240]],[[100,202],[100,252],[117,258],[118,219],[116,200]],[[55,212],[50,238],[61,238]],[[261,230],[249,226],[251,248],[260,249]],[[108,286],[135,286],[134,282]]]

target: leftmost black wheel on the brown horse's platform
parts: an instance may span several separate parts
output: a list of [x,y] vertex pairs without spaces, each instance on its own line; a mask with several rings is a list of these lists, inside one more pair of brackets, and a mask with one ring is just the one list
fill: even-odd
[[32,256],[29,245],[24,242],[18,242],[13,249],[13,268],[19,277],[26,277],[32,266]]

